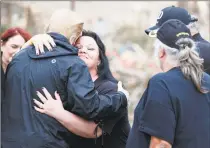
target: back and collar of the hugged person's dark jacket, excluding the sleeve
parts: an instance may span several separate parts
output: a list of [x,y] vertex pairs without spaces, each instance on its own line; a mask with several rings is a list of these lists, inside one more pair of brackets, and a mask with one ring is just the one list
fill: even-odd
[[[8,67],[2,111],[2,144],[5,148],[14,147],[13,144],[30,148],[67,147],[59,138],[59,132],[67,130],[55,119],[36,112],[33,98],[37,98],[36,91],[42,87],[51,93],[57,90],[62,98],[67,98],[68,68],[75,63],[84,63],[77,56],[77,49],[67,39],[63,42],[65,37],[56,33],[51,35],[57,44],[53,52],[36,56],[34,47],[30,46],[18,53]],[[4,145],[8,140],[17,143]]]

